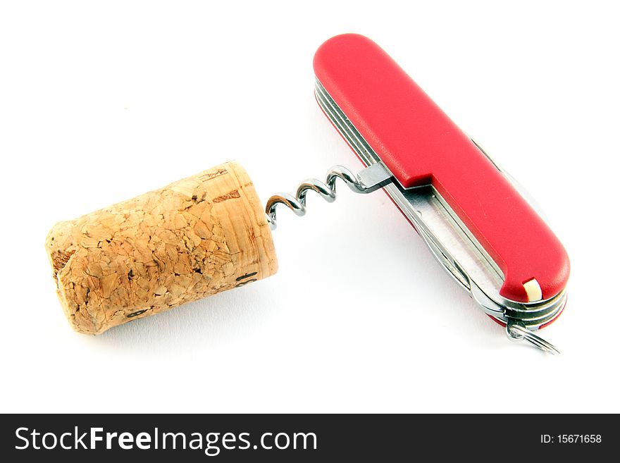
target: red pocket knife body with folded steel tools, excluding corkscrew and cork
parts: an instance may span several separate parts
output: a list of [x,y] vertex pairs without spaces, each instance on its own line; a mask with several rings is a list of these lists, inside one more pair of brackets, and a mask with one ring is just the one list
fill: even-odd
[[370,39],[329,39],[314,72],[321,109],[445,270],[509,338],[557,353],[532,332],[564,309],[569,258],[502,169]]

